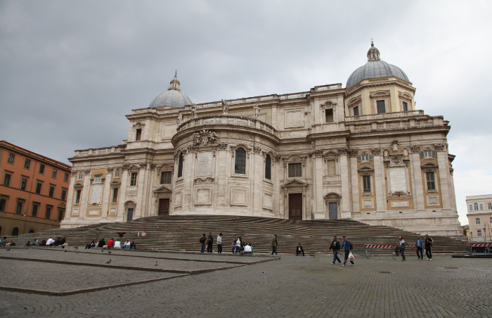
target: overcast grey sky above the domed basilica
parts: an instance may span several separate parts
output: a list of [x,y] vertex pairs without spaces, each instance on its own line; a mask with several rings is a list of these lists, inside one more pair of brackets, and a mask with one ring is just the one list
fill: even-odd
[[347,83],[381,58],[451,124],[460,222],[492,193],[490,1],[0,0],[0,139],[70,163],[121,144],[178,70],[194,103]]

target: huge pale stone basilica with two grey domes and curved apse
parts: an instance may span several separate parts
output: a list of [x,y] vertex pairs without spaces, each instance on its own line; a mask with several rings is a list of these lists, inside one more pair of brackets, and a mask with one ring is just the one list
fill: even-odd
[[460,233],[448,122],[415,109],[415,87],[373,44],[367,56],[345,88],[210,103],[175,76],[127,115],[122,145],[75,151],[62,227],[250,215]]

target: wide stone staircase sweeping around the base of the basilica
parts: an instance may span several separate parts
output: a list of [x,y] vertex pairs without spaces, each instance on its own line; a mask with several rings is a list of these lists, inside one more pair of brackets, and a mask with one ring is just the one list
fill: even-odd
[[[398,243],[403,236],[408,243],[415,243],[417,234],[384,226],[370,226],[351,220],[293,221],[266,217],[235,216],[197,216],[172,215],[143,217],[130,222],[98,224],[75,229],[53,229],[41,233],[25,234],[19,245],[34,238],[48,239],[65,236],[70,246],[85,246],[91,240],[119,239],[134,241],[138,250],[199,251],[200,237],[212,232],[214,239],[223,234],[223,249],[231,252],[231,243],[235,235],[242,241],[251,243],[255,253],[271,251],[271,239],[277,234],[278,252],[295,253],[297,243],[301,243],[306,253],[329,253],[333,236],[342,241],[347,236],[355,246],[356,253],[365,253],[365,244]],[[423,237],[422,237],[423,239]],[[459,253],[464,249],[464,237],[433,236],[433,253]],[[413,252],[414,248],[410,251]],[[214,242],[214,252],[216,245]],[[380,252],[383,250],[372,250]],[[391,250],[384,250],[387,253]]]

